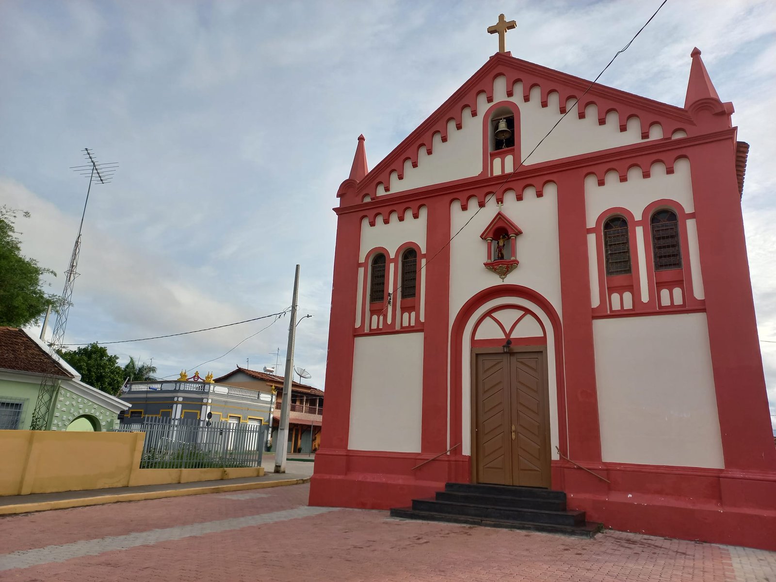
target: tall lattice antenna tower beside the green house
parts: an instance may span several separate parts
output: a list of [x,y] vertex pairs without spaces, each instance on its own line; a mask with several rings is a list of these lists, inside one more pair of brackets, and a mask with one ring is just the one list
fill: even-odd
[[[62,296],[58,300],[57,320],[54,324],[54,332],[49,343],[49,355],[56,359],[57,349],[64,343],[64,329],[68,326],[68,314],[72,304],[73,286],[76,277],[78,277],[78,255],[81,253],[81,230],[84,227],[84,217],[86,216],[86,205],[89,203],[89,193],[92,192],[92,184],[108,184],[113,180],[113,175],[119,168],[116,162],[100,163],[95,158],[94,152],[88,147],[84,148],[84,158],[87,162],[84,165],[72,166],[71,170],[89,179],[86,189],[86,200],[84,202],[84,211],[81,213],[81,223],[78,225],[78,236],[75,237],[73,253],[70,256],[70,265],[64,272],[64,289]],[[33,431],[44,431],[47,428],[51,404],[57,393],[59,379],[53,374],[46,374],[40,381],[40,390],[38,390],[38,400],[33,411],[33,421],[31,428]]]

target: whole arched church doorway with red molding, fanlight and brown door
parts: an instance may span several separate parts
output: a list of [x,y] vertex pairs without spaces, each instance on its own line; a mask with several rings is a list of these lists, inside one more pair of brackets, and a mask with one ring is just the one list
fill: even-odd
[[[505,349],[508,340],[511,344]],[[470,456],[471,479],[549,487],[551,461],[559,458],[556,446],[566,449],[563,339],[556,310],[543,296],[523,286],[483,289],[459,310],[452,325],[450,349],[449,439],[452,444],[461,442],[462,454]],[[490,394],[482,392],[486,376],[491,383]],[[513,403],[519,404],[521,399],[522,412],[519,407],[513,408]],[[531,415],[521,417],[528,413],[529,400],[532,400],[532,418]],[[483,417],[481,413],[494,403],[496,408],[490,410],[493,413],[490,418]],[[486,421],[499,425],[492,433],[496,440],[488,443],[483,442],[484,437],[480,438],[483,428],[485,431],[494,428],[483,427]],[[532,432],[535,438],[520,442],[521,424],[526,435]],[[483,454],[493,453],[487,447],[499,443],[504,445],[504,455],[510,457],[510,460],[501,459],[499,470],[507,472],[534,464],[512,450],[513,442],[515,449],[520,445],[534,448],[536,462],[542,463],[540,470],[528,479],[519,471],[501,477],[494,477],[493,471],[490,476],[487,470],[483,472]],[[498,466],[499,461],[495,460],[491,468]]]

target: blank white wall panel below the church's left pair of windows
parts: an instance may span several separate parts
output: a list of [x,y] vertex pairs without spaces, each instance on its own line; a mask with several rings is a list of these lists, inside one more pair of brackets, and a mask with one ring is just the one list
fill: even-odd
[[420,452],[423,334],[355,338],[348,449]]

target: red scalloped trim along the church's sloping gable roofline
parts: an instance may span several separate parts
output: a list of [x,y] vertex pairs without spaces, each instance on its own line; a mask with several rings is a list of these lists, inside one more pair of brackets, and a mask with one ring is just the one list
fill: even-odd
[[[566,113],[566,107],[570,106],[570,103],[576,102],[576,110],[570,111],[569,115],[584,119],[593,110],[588,109],[589,106],[594,105],[594,110],[598,112],[598,124],[612,123],[614,119],[614,123],[618,122],[621,132],[626,128],[631,130],[632,124],[635,123],[632,118],[637,118],[640,139],[649,138],[650,127],[655,124],[660,124],[666,137],[670,137],[671,132],[678,129],[689,135],[694,126],[691,116],[681,107],[598,83],[591,86],[591,81],[583,78],[523,61],[509,53],[497,53],[383,161],[359,180],[359,196],[371,196],[374,199],[374,196],[391,192],[392,178],[394,184],[402,181],[405,168],[410,168],[406,165],[407,161],[411,163],[411,168],[417,168],[419,152],[424,150],[424,154],[431,156],[435,142],[445,144],[449,140],[450,132],[462,129],[465,116],[470,119],[485,113],[480,109],[483,109],[483,105],[489,107],[494,102],[494,81],[502,77],[505,78],[507,98],[518,107],[525,102],[536,100],[540,101],[542,108],[546,108],[553,100],[555,110],[559,109],[562,114]],[[516,91],[521,94],[515,95]],[[553,95],[552,99],[550,95]],[[613,118],[615,113],[617,117]],[[406,189],[405,187],[401,190]],[[394,188],[394,191],[398,190]]]

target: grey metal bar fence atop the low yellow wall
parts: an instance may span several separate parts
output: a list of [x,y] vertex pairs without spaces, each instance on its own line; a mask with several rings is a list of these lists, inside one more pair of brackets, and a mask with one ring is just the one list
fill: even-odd
[[265,424],[145,417],[140,422],[126,419],[116,431],[146,434],[141,469],[205,469],[261,466],[267,428]]

